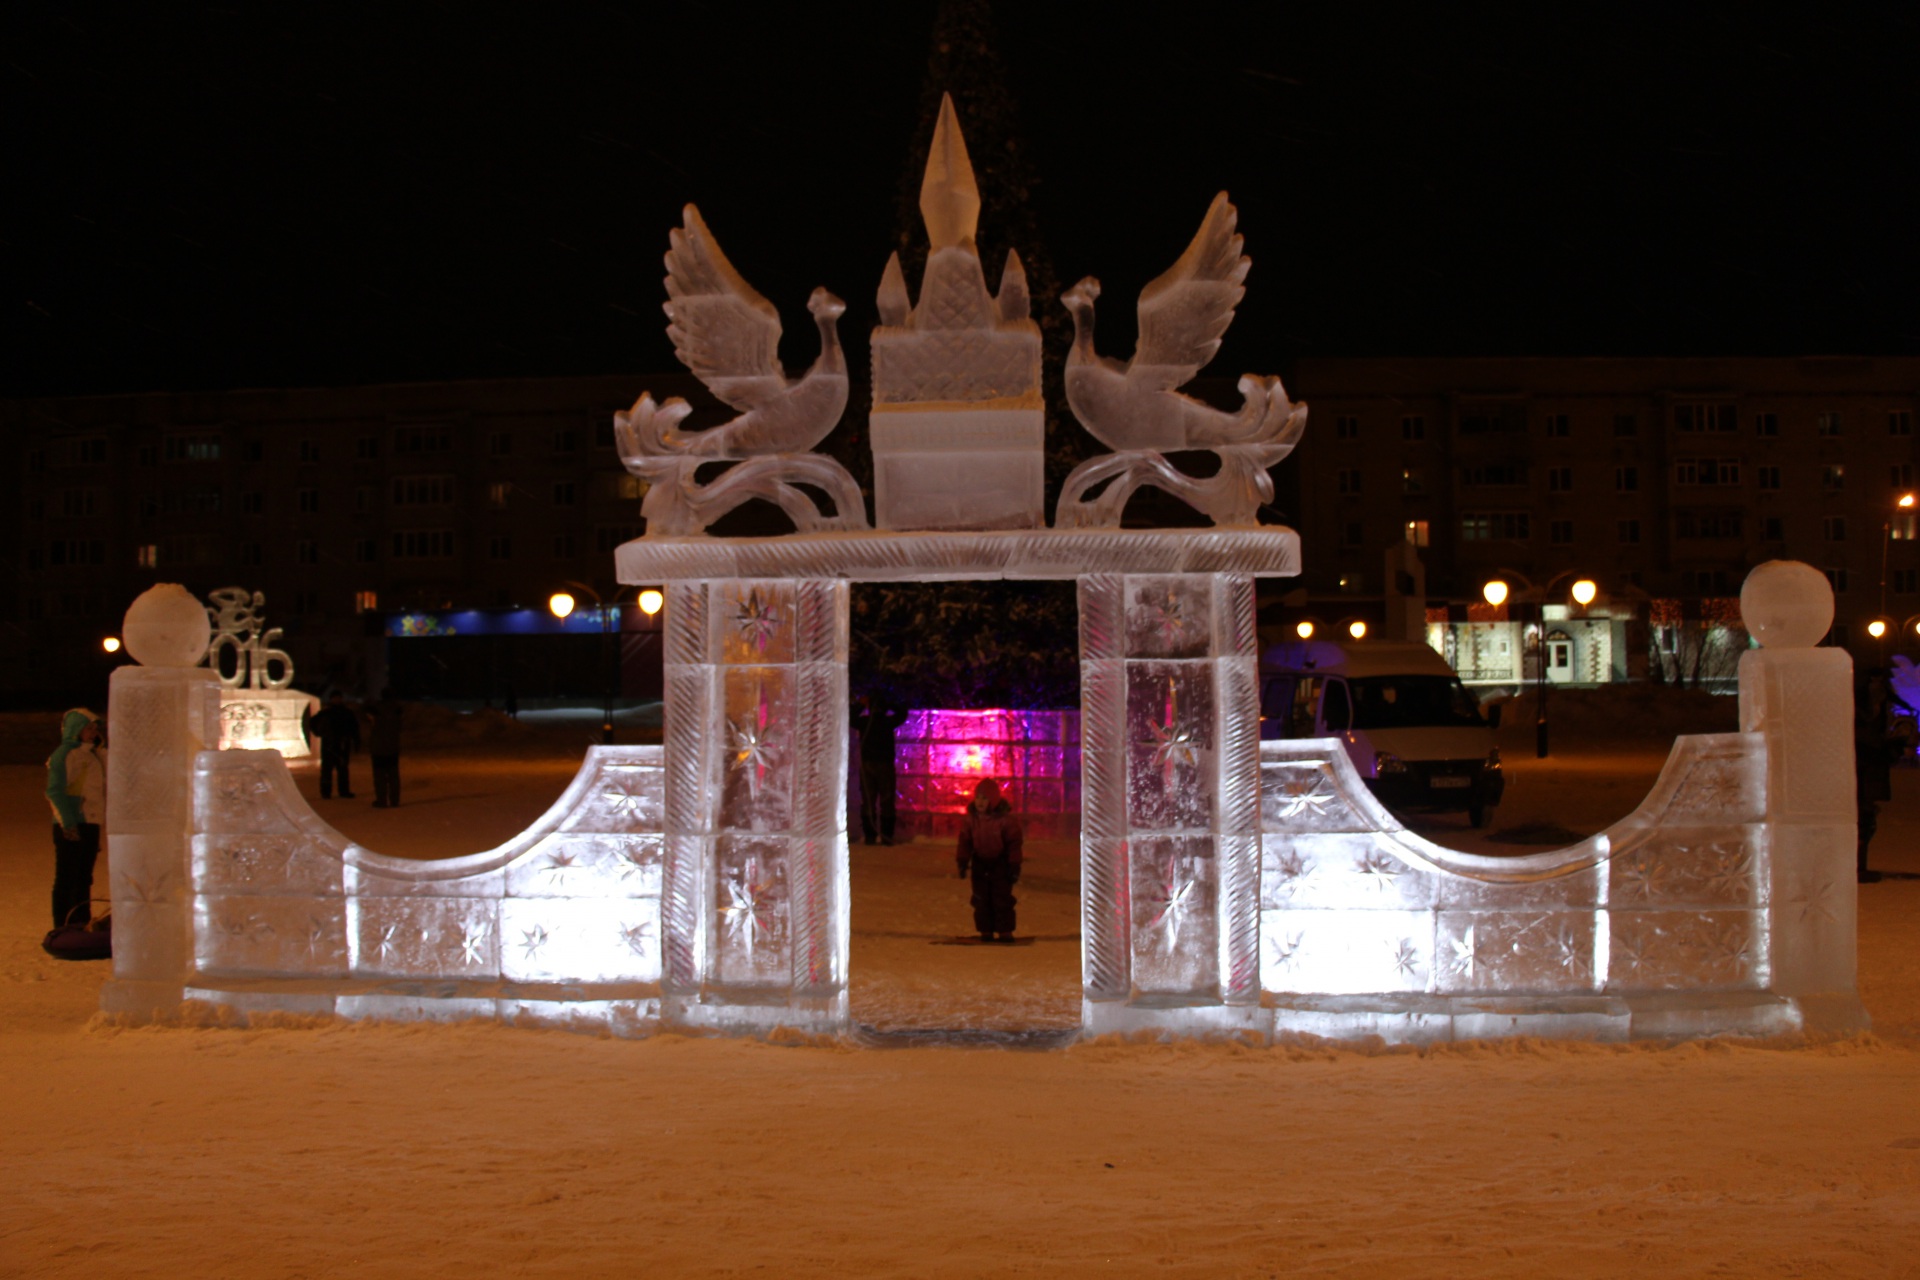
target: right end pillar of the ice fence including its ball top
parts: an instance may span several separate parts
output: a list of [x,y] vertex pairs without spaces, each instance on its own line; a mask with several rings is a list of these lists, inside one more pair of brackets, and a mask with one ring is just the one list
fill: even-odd
[[1809,1031],[1866,1027],[1855,990],[1853,662],[1814,649],[1834,591],[1797,560],[1755,568],[1740,591],[1763,649],[1740,658],[1740,727],[1766,739],[1772,988]]

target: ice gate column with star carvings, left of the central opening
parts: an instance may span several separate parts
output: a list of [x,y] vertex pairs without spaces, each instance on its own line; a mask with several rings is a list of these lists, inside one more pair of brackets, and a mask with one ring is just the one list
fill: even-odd
[[662,1017],[847,1021],[847,583],[666,593]]

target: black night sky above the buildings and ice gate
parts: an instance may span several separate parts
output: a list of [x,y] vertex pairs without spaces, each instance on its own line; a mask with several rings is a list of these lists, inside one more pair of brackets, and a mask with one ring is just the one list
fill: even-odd
[[[864,367],[935,8],[15,2],[0,395],[670,370],[689,200],[789,365],[826,284]],[[996,21],[1035,225],[1102,276],[1110,353],[1221,188],[1254,271],[1212,374],[1920,353],[1914,6]]]

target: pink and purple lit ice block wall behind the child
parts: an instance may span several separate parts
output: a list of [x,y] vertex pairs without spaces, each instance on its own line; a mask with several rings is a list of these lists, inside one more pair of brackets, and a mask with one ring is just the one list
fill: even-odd
[[920,710],[895,743],[902,837],[950,839],[983,777],[1000,783],[1029,837],[1079,835],[1077,710]]

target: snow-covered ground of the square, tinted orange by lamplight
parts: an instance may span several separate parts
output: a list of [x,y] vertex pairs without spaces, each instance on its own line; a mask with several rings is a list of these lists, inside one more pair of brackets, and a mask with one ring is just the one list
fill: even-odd
[[[1555,747],[1509,747],[1490,852],[1599,829],[1659,764]],[[397,810],[321,812],[470,852],[570,773],[493,735],[409,758]],[[1876,844],[1914,879],[1860,890],[1874,1034],[1379,1054],[119,1029],[106,965],[38,950],[42,781],[0,768],[4,1276],[1920,1274],[1920,771]],[[937,944],[970,931],[947,848],[858,848],[852,875],[862,1021],[1077,1017],[1071,844],[1033,850],[1020,948]]]

